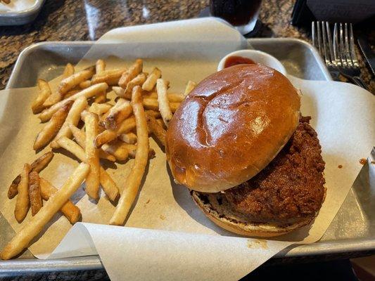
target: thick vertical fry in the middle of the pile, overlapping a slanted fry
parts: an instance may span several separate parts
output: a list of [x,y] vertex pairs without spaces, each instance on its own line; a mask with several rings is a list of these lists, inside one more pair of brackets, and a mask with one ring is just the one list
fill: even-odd
[[85,152],[87,163],[90,164],[90,172],[86,178],[86,192],[89,197],[98,200],[100,184],[99,152],[94,145],[94,140],[98,136],[98,115],[87,112],[84,117],[84,124],[86,127]]

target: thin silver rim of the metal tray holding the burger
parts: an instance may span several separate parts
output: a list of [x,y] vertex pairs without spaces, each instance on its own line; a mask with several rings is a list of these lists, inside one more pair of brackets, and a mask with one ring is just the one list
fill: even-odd
[[[324,61],[320,57],[316,48],[309,44],[307,41],[295,38],[256,38],[248,39],[248,41],[279,41],[287,42],[293,41],[296,44],[303,44],[305,47],[309,48],[317,60],[319,67],[321,68],[326,80],[332,80],[329,71],[326,69]],[[18,59],[13,67],[11,76],[6,84],[6,89],[10,89],[14,84],[15,74],[20,70],[25,56],[30,53],[34,48],[44,45],[92,45],[94,41],[44,41],[36,44],[32,44],[23,51],[18,56]],[[277,253],[274,258],[292,258],[300,256],[323,256],[328,254],[341,254],[345,252],[375,252],[375,240],[371,239],[348,239],[345,240],[345,249],[342,249],[343,240],[319,240],[318,242],[312,244],[300,244],[293,245],[293,247],[288,247],[283,251]],[[274,259],[272,258],[272,259]],[[66,259],[15,259],[11,261],[0,261],[0,274],[11,274],[16,272],[48,272],[51,270],[65,271],[65,270],[92,270],[92,269],[103,269],[103,264],[98,255],[96,256],[81,256],[81,257],[70,257]]]

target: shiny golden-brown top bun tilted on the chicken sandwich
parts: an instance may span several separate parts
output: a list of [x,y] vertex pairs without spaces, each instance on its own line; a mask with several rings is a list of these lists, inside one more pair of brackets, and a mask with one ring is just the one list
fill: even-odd
[[200,192],[248,181],[291,138],[299,115],[300,96],[277,70],[255,64],[216,72],[189,93],[169,124],[172,174]]

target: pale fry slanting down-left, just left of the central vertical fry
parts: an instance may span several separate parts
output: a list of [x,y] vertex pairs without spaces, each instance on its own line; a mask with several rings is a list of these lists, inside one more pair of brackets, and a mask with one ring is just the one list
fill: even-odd
[[80,122],[81,112],[87,107],[87,100],[84,96],[80,96],[77,100],[74,101],[72,108],[70,109],[68,116],[65,119],[63,126],[61,126],[60,131],[58,131],[56,137],[51,142],[51,148],[59,148],[56,140],[62,136],[70,138],[72,136],[72,131],[69,129],[69,124],[77,126]]

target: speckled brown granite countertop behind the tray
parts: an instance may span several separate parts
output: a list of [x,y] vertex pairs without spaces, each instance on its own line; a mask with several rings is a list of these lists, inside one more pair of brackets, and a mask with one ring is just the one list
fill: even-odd
[[[293,37],[311,41],[310,30],[293,27],[290,23],[294,2],[263,1],[259,15],[262,26],[256,37]],[[30,44],[96,40],[115,27],[197,17],[207,6],[208,0],[46,0],[34,22],[18,27],[0,27],[0,89],[5,88],[18,55]],[[369,30],[367,35],[374,38],[374,30]],[[362,58],[360,66],[362,79],[375,93],[374,77]]]

